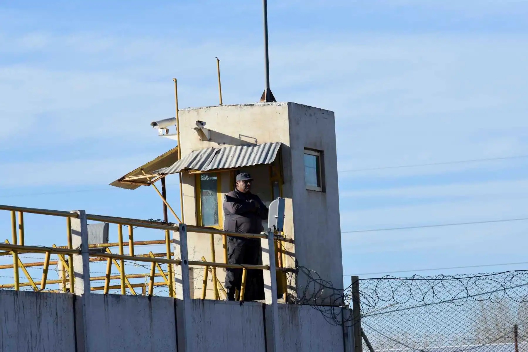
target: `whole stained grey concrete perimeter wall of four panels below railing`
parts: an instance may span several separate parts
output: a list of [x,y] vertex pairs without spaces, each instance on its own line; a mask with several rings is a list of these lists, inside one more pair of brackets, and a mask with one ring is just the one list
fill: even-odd
[[[166,297],[90,294],[88,352],[176,351],[181,307]],[[192,300],[189,350],[264,352],[265,307]],[[74,352],[75,314],[70,294],[0,290],[0,351]],[[342,327],[328,324],[313,307],[279,305],[279,330],[284,351],[344,350]]]

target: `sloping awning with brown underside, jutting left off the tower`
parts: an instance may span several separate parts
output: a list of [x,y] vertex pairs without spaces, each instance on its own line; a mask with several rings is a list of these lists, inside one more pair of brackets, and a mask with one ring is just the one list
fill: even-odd
[[150,177],[155,177],[157,176],[155,174],[156,170],[159,170],[167,166],[171,166],[174,163],[176,163],[176,161],[178,161],[178,147],[172,148],[166,153],[138,167],[134,171],[131,171],[125,176],[115,180],[114,182],[110,184],[110,186],[121,187],[121,188],[126,188],[126,189],[136,189],[139,186],[143,186],[143,185],[147,186],[148,185],[147,178],[143,176],[142,169]]

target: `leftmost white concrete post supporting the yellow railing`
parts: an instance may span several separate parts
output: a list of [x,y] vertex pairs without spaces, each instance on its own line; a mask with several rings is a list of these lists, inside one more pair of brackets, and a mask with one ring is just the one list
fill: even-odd
[[73,254],[73,304],[75,305],[75,334],[76,351],[88,352],[89,344],[89,317],[90,307],[90,262],[88,254],[88,225],[86,212],[83,210],[73,211],[79,216],[71,219],[72,247],[81,250],[79,254]]

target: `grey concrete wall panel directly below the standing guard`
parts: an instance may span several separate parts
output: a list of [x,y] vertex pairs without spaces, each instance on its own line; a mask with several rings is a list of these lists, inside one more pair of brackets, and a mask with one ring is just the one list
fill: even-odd
[[265,352],[262,303],[192,300],[190,351]]

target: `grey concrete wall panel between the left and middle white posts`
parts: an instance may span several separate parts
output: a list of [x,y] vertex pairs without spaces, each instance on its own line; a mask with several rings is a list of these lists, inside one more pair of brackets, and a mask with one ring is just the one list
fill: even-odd
[[91,294],[89,352],[175,351],[174,299]]

